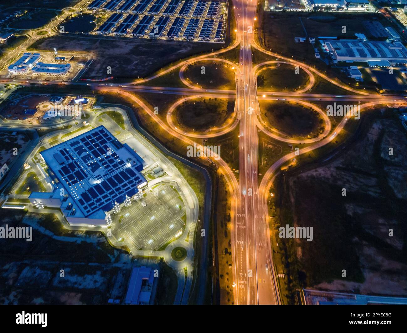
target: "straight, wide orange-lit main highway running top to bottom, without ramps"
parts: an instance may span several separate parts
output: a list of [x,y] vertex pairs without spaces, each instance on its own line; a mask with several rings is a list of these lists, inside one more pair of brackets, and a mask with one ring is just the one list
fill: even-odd
[[235,304],[278,304],[278,292],[271,273],[271,247],[268,242],[267,220],[261,210],[258,192],[258,133],[256,126],[257,87],[252,62],[252,41],[256,1],[234,1],[237,30],[241,35],[238,79],[239,137],[239,207],[232,233]]

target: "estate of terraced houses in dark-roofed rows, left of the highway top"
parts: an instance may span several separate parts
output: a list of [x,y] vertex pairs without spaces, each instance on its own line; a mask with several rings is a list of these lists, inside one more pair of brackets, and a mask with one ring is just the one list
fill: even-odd
[[94,0],[94,15],[110,15],[91,34],[224,43],[227,4],[201,0]]

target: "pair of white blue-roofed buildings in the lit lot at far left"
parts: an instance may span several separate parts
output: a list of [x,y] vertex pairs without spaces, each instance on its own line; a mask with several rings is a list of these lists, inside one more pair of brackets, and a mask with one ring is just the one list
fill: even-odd
[[41,53],[25,52],[17,61],[9,65],[9,73],[26,75],[32,71],[33,75],[67,76],[72,71],[70,63],[43,63],[41,60]]

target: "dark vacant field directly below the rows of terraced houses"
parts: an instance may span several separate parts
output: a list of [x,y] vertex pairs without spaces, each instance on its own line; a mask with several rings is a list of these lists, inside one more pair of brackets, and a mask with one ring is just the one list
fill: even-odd
[[[82,78],[117,80],[145,77],[163,66],[189,57],[191,54],[210,52],[223,44],[165,41],[139,38],[55,36],[44,38],[31,46],[35,50],[91,53],[93,62]],[[107,74],[107,67],[112,73]]]

